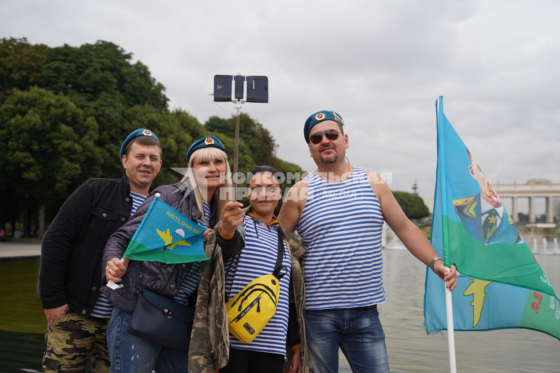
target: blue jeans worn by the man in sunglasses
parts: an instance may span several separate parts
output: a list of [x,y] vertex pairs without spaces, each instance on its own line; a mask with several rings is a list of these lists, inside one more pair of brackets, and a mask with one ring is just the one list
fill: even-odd
[[377,306],[306,310],[305,331],[314,373],[338,372],[338,347],[352,372],[389,373]]

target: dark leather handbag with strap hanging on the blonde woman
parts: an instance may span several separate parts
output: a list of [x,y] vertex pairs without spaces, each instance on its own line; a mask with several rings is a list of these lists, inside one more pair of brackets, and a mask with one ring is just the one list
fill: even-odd
[[139,263],[134,268],[138,302],[128,332],[162,346],[189,350],[194,309],[140,286]]

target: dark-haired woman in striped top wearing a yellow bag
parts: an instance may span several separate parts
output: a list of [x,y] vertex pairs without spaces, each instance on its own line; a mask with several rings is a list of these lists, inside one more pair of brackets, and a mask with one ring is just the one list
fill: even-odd
[[273,215],[282,198],[279,175],[273,167],[254,168],[250,206],[242,210],[234,201],[222,210],[216,238],[224,259],[230,357],[220,373],[281,373],[287,341],[294,351],[291,372],[309,371],[302,314],[305,246]]

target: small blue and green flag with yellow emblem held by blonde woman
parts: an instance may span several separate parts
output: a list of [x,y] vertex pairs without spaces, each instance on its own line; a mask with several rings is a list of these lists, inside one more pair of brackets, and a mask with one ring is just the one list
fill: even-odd
[[204,254],[203,232],[204,227],[156,196],[123,258],[166,264],[204,261],[209,258]]

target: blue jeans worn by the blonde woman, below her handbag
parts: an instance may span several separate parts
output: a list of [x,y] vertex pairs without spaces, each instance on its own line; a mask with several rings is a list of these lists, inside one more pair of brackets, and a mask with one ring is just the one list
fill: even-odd
[[132,315],[118,307],[113,310],[107,344],[111,373],[188,372],[189,351],[175,350],[128,333]]

